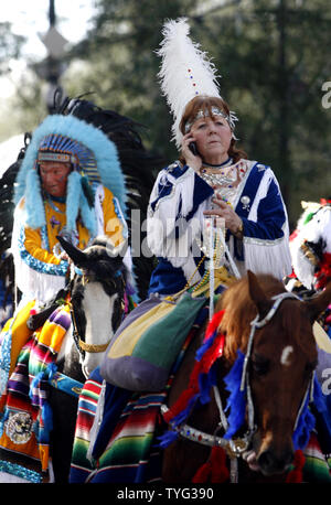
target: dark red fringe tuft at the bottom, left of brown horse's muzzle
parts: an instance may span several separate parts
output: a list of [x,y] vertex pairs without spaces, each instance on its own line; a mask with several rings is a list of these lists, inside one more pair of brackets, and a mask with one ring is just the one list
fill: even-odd
[[202,484],[211,482],[214,484],[226,482],[229,479],[229,472],[226,466],[226,453],[223,448],[214,447],[211,456],[195,473],[192,482]]

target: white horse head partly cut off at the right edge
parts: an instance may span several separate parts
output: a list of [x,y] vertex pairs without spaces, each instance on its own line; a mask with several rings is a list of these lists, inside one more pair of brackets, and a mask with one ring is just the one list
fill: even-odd
[[293,270],[307,289],[321,289],[331,279],[331,204],[302,202],[305,212],[290,237]]

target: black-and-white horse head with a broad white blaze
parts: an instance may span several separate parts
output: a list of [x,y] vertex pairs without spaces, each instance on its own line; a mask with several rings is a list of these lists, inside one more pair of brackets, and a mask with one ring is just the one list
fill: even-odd
[[74,339],[85,376],[96,368],[124,313],[126,266],[106,237],[81,250],[58,236],[74,265],[71,303]]

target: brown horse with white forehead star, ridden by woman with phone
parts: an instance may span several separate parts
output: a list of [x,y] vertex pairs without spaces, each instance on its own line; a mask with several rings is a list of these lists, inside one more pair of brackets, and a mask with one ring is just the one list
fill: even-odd
[[[217,333],[225,335],[216,361],[218,389],[213,388],[211,401],[193,408],[185,425],[177,427],[180,434],[163,453],[164,482],[191,482],[197,470],[206,461],[211,462],[215,447],[225,449],[226,466],[228,461],[233,463],[232,482],[238,475],[238,461],[245,473],[244,476],[239,472],[241,481],[273,480],[274,475],[277,481],[285,480],[295,456],[293,431],[305,399],[311,393],[317,365],[312,323],[330,300],[331,283],[321,294],[302,302],[274,277],[252,272],[224,292],[215,308],[224,311],[218,312],[223,319]],[[170,426],[171,411],[175,412],[188,394],[188,386],[192,388],[190,376],[201,344],[200,334],[191,343],[174,377],[168,398],[170,410],[167,407],[163,410]],[[226,419],[223,406],[232,391],[226,390],[223,379],[237,363],[238,351],[246,353],[239,380],[241,388],[245,385],[247,391],[247,408],[245,425],[234,433],[235,440],[234,434],[224,438],[229,418]],[[244,456],[246,462],[238,456]]]

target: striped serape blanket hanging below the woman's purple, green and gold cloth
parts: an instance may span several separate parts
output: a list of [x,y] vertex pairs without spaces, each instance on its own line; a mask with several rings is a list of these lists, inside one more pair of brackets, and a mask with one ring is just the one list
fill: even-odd
[[[78,400],[71,483],[150,483],[161,480],[161,451],[157,441],[160,407],[189,343],[206,321],[209,308],[196,318],[163,391],[138,394],[113,386],[94,370]],[[104,398],[104,404],[100,399]],[[102,425],[94,442],[98,409]]]

